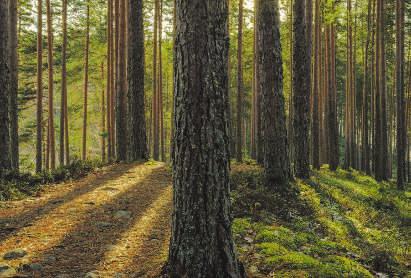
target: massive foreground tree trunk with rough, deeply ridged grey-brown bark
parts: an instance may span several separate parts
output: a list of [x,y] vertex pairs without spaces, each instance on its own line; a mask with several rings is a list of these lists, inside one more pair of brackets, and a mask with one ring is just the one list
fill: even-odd
[[177,0],[166,277],[245,277],[231,236],[226,0]]

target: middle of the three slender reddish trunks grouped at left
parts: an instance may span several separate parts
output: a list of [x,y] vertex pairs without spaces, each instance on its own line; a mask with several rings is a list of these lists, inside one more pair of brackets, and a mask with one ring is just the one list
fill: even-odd
[[47,4],[47,43],[48,43],[48,108],[49,108],[49,129],[47,136],[47,146],[49,148],[47,167],[54,170],[56,168],[56,140],[54,130],[54,79],[53,79],[53,12],[51,7],[51,0],[46,1]]

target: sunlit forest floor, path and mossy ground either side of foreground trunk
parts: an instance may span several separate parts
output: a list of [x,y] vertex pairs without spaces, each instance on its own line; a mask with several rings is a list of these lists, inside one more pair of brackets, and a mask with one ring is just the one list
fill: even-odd
[[[267,190],[232,165],[233,233],[249,277],[407,277],[411,192],[356,171]],[[119,164],[0,202],[1,277],[156,277],[167,258],[171,174]],[[279,193],[285,191],[286,193]]]

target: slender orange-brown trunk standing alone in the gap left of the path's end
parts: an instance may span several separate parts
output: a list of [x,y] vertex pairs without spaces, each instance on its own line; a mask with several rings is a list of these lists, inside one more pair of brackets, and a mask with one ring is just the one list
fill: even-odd
[[83,147],[82,159],[87,159],[87,114],[88,114],[88,71],[89,71],[89,52],[90,52],[90,0],[87,0],[86,11],[86,45],[84,50],[84,107],[83,107]]

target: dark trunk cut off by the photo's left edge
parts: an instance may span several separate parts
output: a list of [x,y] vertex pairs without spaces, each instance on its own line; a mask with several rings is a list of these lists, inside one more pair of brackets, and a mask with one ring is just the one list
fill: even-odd
[[9,134],[8,1],[0,0],[0,174],[11,167]]

